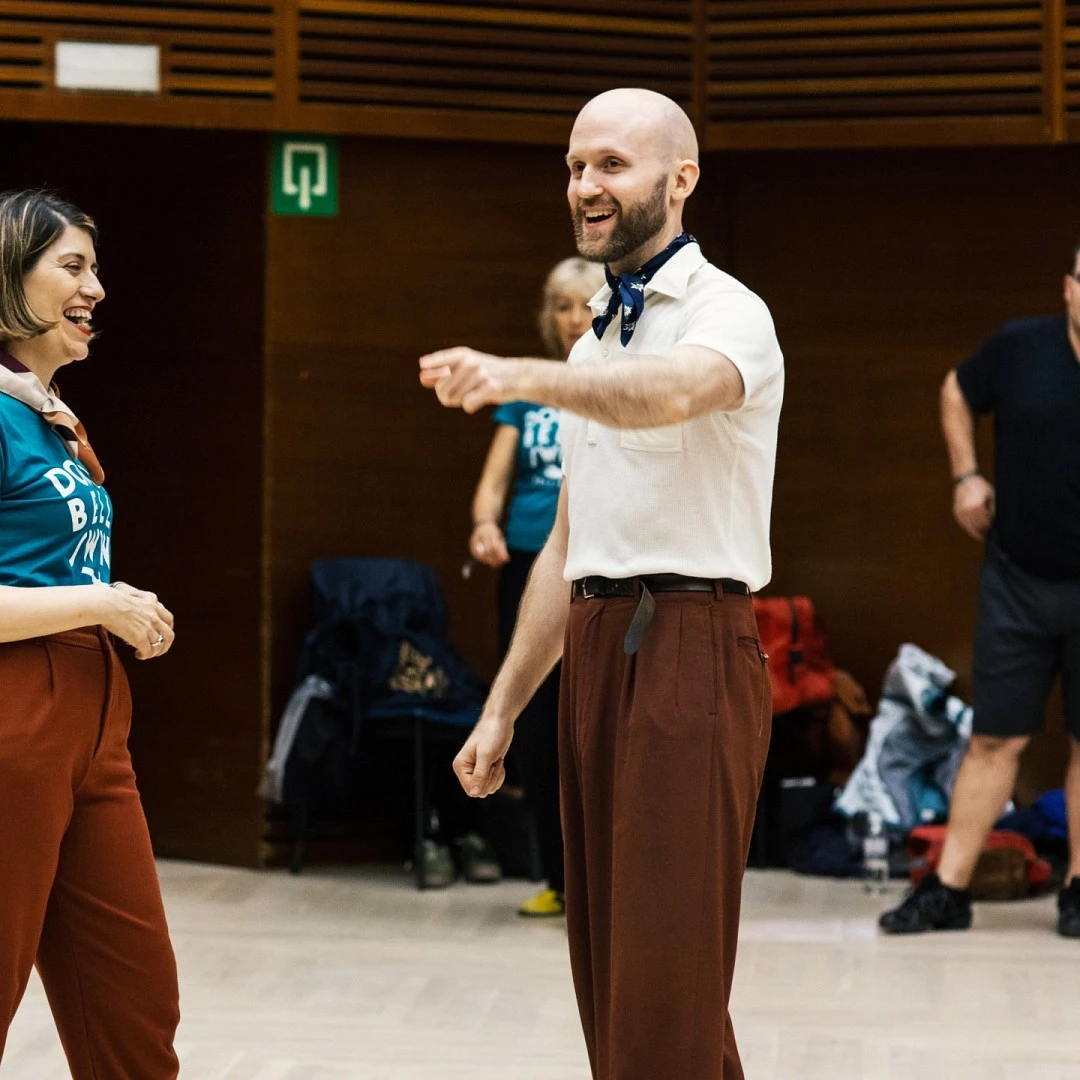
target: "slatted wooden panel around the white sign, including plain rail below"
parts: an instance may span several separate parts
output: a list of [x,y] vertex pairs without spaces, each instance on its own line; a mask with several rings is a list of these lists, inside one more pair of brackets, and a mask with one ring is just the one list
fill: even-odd
[[[0,114],[267,127],[274,119],[275,16],[285,0],[0,0]],[[60,91],[57,41],[157,44],[160,95]]]

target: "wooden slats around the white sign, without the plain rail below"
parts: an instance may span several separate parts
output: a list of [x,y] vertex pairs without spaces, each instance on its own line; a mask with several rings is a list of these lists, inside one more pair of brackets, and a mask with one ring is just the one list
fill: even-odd
[[51,91],[57,41],[158,44],[162,93],[271,100],[273,0],[0,0],[0,87]]

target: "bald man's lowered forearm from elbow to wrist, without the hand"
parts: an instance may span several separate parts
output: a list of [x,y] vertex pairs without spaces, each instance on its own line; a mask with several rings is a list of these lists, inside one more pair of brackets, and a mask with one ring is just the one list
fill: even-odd
[[566,552],[548,545],[537,556],[517,611],[510,651],[484,706],[515,720],[563,654],[570,585],[563,580]]

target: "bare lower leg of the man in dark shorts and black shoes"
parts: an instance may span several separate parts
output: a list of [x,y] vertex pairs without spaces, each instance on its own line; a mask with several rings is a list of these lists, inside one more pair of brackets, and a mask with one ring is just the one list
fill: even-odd
[[[1016,784],[1020,756],[1028,737],[998,739],[972,735],[953,789],[948,832],[937,876],[950,889],[967,889],[975,873],[975,863],[994,823],[1001,816]],[[1070,778],[1076,773],[1077,820],[1080,821],[1080,765],[1072,756]],[[1074,845],[1074,856],[1080,848]],[[1080,866],[1080,861],[1077,862]]]

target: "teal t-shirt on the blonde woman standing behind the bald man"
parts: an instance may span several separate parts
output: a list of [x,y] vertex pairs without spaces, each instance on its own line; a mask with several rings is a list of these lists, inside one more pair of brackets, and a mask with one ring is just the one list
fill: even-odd
[[521,432],[504,529],[507,546],[538,552],[555,524],[558,488],[563,483],[558,409],[530,402],[508,402],[495,410],[494,420]]

